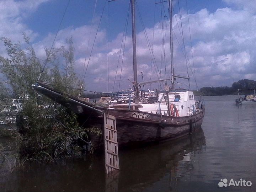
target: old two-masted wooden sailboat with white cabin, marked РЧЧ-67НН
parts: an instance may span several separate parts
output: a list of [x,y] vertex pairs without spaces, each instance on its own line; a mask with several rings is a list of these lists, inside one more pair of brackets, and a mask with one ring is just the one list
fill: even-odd
[[[172,43],[171,45],[171,78],[155,81],[138,82],[136,60],[135,33],[135,0],[131,0],[132,12],[132,44],[133,44],[133,74],[135,99],[133,103],[111,104],[104,107],[93,105],[75,96],[58,92],[46,82],[37,81],[33,89],[51,98],[53,101],[70,108],[78,116],[81,125],[100,128],[104,133],[104,114],[115,117],[118,146],[140,145],[149,142],[170,140],[191,134],[201,128],[205,107],[200,101],[195,101],[193,91],[175,90],[176,78],[189,77],[174,74]],[[172,2],[169,1],[170,40],[172,41]],[[158,101],[149,103],[140,97],[139,87],[155,82],[171,81],[171,87],[165,85],[165,90],[158,95]],[[68,97],[68,99],[67,99]],[[90,133],[94,149],[103,149],[104,135]]]

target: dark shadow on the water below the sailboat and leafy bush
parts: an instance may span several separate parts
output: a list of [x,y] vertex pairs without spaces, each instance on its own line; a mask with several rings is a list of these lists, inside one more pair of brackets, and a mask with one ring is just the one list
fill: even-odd
[[14,172],[0,170],[1,191],[143,191],[168,175],[169,190],[177,184],[177,166],[191,161],[206,141],[202,129],[175,142],[119,151],[121,171],[106,178],[104,156],[26,164]]

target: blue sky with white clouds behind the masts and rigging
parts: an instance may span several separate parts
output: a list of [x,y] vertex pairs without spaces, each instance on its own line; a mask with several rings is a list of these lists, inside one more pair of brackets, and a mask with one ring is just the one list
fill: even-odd
[[[97,0],[95,18],[92,21],[96,0],[70,0],[63,23],[60,27],[55,46],[65,46],[65,39],[73,36],[75,47],[75,70],[82,78],[82,69],[85,58],[91,52],[100,16],[105,0]],[[144,80],[156,79],[158,75],[155,66],[161,68],[161,77],[165,77],[164,65],[167,73],[170,71],[170,41],[169,28],[164,28],[165,56],[162,59],[162,26],[161,7],[155,5],[160,0],[137,0],[138,10],[142,15],[143,23],[150,43],[153,42],[153,53],[156,58],[155,65],[151,62],[151,55],[146,43],[142,24],[137,15],[137,54],[138,74],[143,71]],[[191,65],[191,45],[188,31],[188,19],[186,0],[174,0],[173,30],[174,36],[174,62],[177,74],[186,75],[186,60],[182,54],[182,44],[179,28],[180,15],[178,3],[181,8],[181,21],[184,32],[186,52]],[[68,0],[1,0],[0,1],[0,37],[10,38],[13,42],[22,42],[22,32],[31,38],[34,49],[39,58],[46,57],[44,47],[50,47],[57,32]],[[116,75],[117,62],[121,48],[124,25],[126,21],[129,0],[117,0],[109,2],[109,59],[110,59],[110,82],[109,90],[112,91],[113,79]],[[203,86],[231,86],[234,81],[240,79],[256,80],[255,66],[255,30],[256,30],[256,3],[254,0],[187,0],[188,13],[191,28],[192,50],[194,57],[195,74],[198,87]],[[154,12],[156,14],[154,15]],[[168,15],[168,4],[164,3],[162,15]],[[154,22],[155,18],[155,22]],[[176,18],[177,21],[176,22]],[[164,26],[167,26],[164,17]],[[91,25],[92,23],[92,25]],[[92,26],[92,27],[91,27]],[[130,16],[126,36],[126,47],[123,55],[123,67],[121,79],[132,80],[132,44],[131,44]],[[89,40],[89,34],[91,37]],[[87,44],[89,46],[87,48]],[[121,51],[121,58],[122,58]],[[5,55],[4,47],[0,42],[0,54]],[[86,61],[86,64],[87,64]],[[96,43],[92,51],[86,76],[97,78],[85,78],[85,89],[107,91],[107,6],[98,30]],[[152,73],[150,72],[152,71]],[[191,88],[195,89],[193,75],[191,76]],[[121,75],[121,63],[118,65],[117,79]],[[101,80],[99,80],[101,79]],[[141,77],[139,76],[139,81]],[[187,84],[184,80],[178,82]],[[114,91],[118,90],[119,82],[115,84]],[[121,89],[130,86],[128,80],[121,81]],[[177,86],[183,86],[180,84]],[[157,88],[158,85],[152,87]]]

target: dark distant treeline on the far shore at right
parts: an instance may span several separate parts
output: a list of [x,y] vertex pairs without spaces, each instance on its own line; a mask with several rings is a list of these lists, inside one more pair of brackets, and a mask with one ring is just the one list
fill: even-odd
[[256,89],[256,81],[250,79],[242,79],[234,82],[231,87],[202,87],[195,95],[236,95],[237,90],[240,89],[240,94],[252,94]]

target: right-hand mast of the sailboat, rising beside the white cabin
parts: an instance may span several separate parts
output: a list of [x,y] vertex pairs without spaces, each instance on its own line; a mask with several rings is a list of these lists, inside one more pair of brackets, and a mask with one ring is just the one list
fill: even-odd
[[170,13],[170,51],[171,51],[171,90],[174,90],[174,64],[173,64],[173,51],[172,51],[172,0],[169,0],[169,13]]

